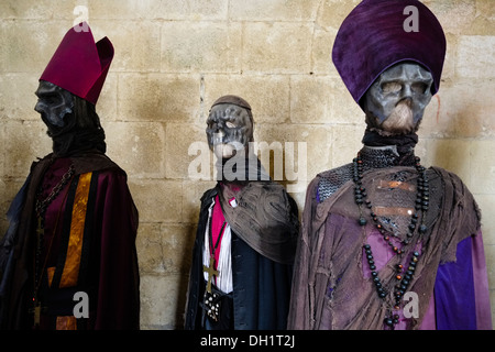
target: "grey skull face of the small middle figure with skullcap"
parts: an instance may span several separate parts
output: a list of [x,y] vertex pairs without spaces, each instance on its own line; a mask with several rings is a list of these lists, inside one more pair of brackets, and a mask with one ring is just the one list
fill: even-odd
[[230,158],[253,141],[253,123],[246,109],[231,103],[213,106],[207,119],[210,148],[219,158]]

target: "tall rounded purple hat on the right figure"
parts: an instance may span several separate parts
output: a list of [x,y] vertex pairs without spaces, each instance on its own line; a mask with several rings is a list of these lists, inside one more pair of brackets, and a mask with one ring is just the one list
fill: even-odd
[[[411,19],[417,20],[418,31],[406,31],[405,22],[415,13]],[[418,0],[362,1],[342,22],[332,52],[333,64],[358,103],[384,70],[400,62],[426,67],[433,76],[435,95],[444,57],[442,26]]]

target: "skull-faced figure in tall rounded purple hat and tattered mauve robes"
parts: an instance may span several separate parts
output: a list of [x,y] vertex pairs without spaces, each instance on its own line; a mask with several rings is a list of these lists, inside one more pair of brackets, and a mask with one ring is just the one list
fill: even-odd
[[[403,29],[418,9],[419,32]],[[491,329],[480,210],[454,174],[415,155],[446,38],[416,0],[364,0],[333,62],[365,113],[352,163],[310,183],[289,329]]]

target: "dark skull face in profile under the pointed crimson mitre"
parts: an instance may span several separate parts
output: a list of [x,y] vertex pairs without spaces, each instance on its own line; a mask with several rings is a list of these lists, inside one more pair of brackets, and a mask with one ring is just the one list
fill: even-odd
[[41,80],[35,95],[37,103],[34,110],[40,112],[43,122],[50,129],[62,129],[65,125],[64,117],[73,112],[72,94],[50,81]]

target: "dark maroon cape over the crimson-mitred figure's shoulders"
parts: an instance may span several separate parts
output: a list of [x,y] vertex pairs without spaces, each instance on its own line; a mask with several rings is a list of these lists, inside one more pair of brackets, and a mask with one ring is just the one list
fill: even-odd
[[[33,267],[34,204],[52,158],[50,154],[33,163],[8,212],[10,227],[0,243],[0,323],[4,329],[29,328],[26,305]],[[140,304],[134,241],[139,216],[129,193],[127,175],[103,154],[88,153],[70,157],[70,161],[75,176],[67,194],[77,188],[84,175],[91,179],[84,228],[87,245],[82,250],[76,286],[79,290],[91,292],[90,307],[95,314],[91,314],[86,328],[136,329]],[[63,241],[68,241],[68,238]],[[116,248],[120,251],[114,251]],[[123,311],[127,314],[122,315]]]

